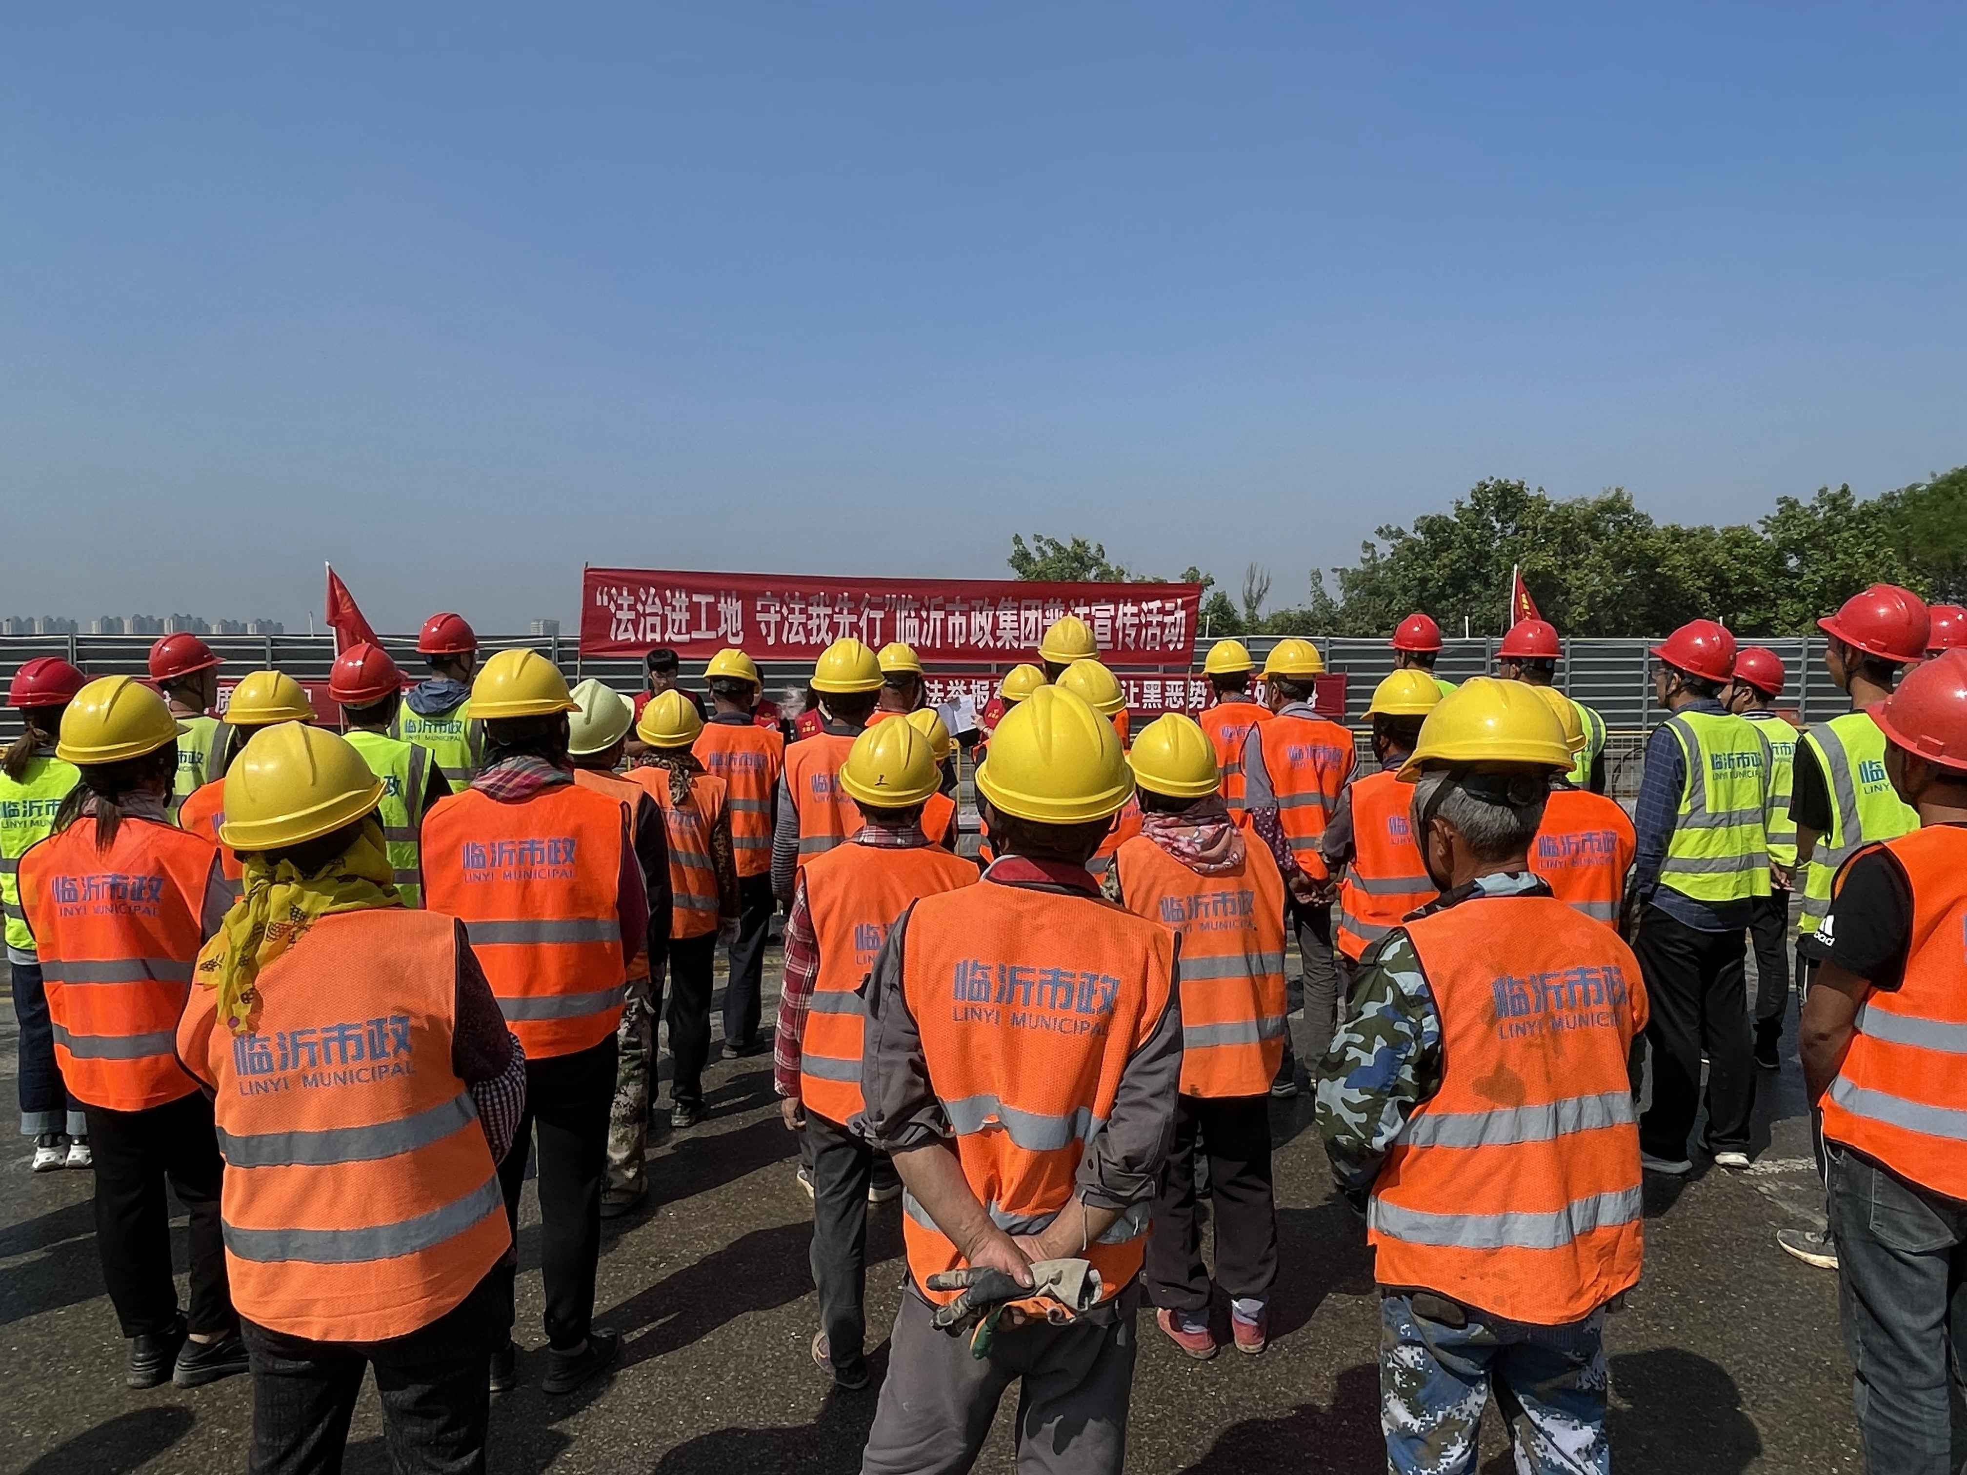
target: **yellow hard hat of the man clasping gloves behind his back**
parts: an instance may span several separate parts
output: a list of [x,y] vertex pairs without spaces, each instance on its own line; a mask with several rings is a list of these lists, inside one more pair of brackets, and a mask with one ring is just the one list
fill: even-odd
[[1127,802],[1133,771],[1111,722],[1064,686],[1041,686],[997,724],[976,783],[1005,814],[1082,824]]

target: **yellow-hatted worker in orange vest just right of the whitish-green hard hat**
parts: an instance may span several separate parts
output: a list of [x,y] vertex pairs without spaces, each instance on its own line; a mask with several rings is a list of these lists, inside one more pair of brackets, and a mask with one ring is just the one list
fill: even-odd
[[702,732],[683,692],[659,692],[635,724],[643,751],[629,769],[669,832],[669,1125],[679,1131],[704,1119],[718,936],[736,936],[740,914],[730,791],[692,751]]

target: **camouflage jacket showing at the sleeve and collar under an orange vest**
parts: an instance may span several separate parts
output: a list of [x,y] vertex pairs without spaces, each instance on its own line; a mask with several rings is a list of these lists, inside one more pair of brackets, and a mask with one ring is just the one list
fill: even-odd
[[[1481,897],[1548,895],[1540,877],[1505,871],[1475,877],[1412,916]],[[1318,1064],[1318,1135],[1334,1182],[1355,1208],[1365,1208],[1406,1119],[1440,1088],[1442,1017],[1406,928],[1395,928],[1359,960],[1345,1019]]]

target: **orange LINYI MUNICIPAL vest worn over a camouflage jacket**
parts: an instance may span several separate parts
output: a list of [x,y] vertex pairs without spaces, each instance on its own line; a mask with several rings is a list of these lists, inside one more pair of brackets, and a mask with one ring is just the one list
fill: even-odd
[[1532,1326],[1639,1280],[1639,1121],[1627,1056],[1639,960],[1556,897],[1483,897],[1406,924],[1442,1021],[1442,1086],[1367,1208],[1383,1286]]

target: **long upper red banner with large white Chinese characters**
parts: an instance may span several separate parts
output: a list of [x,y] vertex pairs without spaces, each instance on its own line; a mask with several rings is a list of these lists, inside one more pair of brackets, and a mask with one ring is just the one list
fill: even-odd
[[1035,661],[1062,614],[1094,627],[1115,667],[1194,661],[1200,584],[1029,584],[995,578],[812,578],[588,568],[580,578],[580,653],[639,657],[667,645],[685,659],[736,645],[753,661],[812,661],[836,639],[881,649],[905,641],[930,665]]

